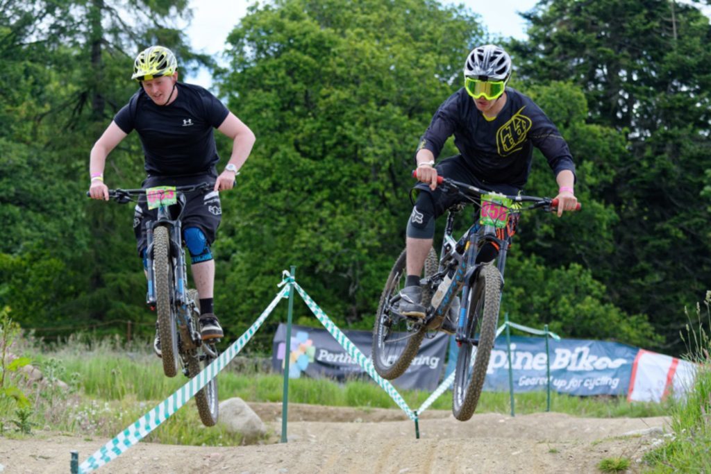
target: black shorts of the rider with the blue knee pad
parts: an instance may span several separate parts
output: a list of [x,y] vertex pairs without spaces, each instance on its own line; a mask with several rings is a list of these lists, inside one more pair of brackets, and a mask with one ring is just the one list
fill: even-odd
[[[215,242],[215,234],[220,221],[222,220],[222,206],[220,205],[220,194],[213,191],[217,176],[215,173],[205,173],[199,176],[181,176],[179,178],[171,178],[167,176],[149,176],[141,184],[141,188],[152,188],[154,186],[184,186],[191,184],[210,183],[210,189],[202,191],[193,191],[186,193],[186,204],[183,210],[182,229],[183,232],[188,227],[198,227],[203,231],[208,243]],[[171,206],[171,217],[176,217],[172,214],[178,206]],[[146,220],[156,220],[158,210],[149,210],[146,205],[146,196],[139,198],[134,212],[134,235],[136,236],[136,247],[139,257],[143,257],[143,251],[146,249],[146,235],[144,232],[144,222]]]

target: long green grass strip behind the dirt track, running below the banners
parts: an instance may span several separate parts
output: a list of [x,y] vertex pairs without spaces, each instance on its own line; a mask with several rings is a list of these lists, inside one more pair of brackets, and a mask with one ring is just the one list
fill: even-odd
[[[21,421],[36,431],[61,431],[90,438],[114,436],[187,382],[182,375],[164,377],[161,361],[151,352],[149,341],[125,346],[118,340],[75,338],[53,350],[36,352],[27,345],[23,352],[43,372],[70,381],[70,390],[40,389],[28,384],[24,389],[31,395],[33,406],[31,416],[24,421],[10,415],[16,412],[13,400],[0,399],[0,413],[8,414],[0,416],[6,435],[14,431],[14,421]],[[282,402],[283,382],[280,374],[255,370],[237,372],[230,365],[218,377],[219,398]],[[412,409],[418,409],[430,395],[417,390],[402,391],[401,394]],[[307,377],[290,379],[289,402],[351,406],[365,411],[398,409],[383,389],[369,378],[345,383]],[[553,411],[574,416],[665,415],[665,406],[660,404],[630,404],[624,398],[596,399],[556,393],[552,394],[551,407]],[[540,413],[545,408],[545,392],[515,395],[516,414]],[[442,394],[430,409],[451,410],[451,392]],[[509,414],[508,393],[484,392],[477,412]],[[0,424],[0,429],[2,426]],[[192,400],[185,409],[179,410],[152,432],[146,441],[210,446],[242,443],[240,436],[228,433],[220,425],[205,429]]]

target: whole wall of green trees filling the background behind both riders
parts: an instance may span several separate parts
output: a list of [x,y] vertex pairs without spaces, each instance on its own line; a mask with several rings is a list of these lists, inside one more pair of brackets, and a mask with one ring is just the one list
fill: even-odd
[[[235,25],[230,66],[218,70],[186,45],[186,4],[0,4],[0,307],[24,328],[49,340],[81,328],[123,335],[127,321],[152,330],[132,210],[85,190],[88,152],[136,90],[132,58],[153,43],[173,48],[181,70],[213,70],[216,92],[257,135],[223,195],[214,246],[228,336],[292,264],[339,325],[369,328],[404,243],[419,136],[461,87],[466,53],[496,41],[513,57],[511,85],[569,142],[584,206],[560,220],[524,216],[504,311],[565,337],[683,350],[683,308],[711,280],[711,28],[695,5],[543,0],[525,14],[524,42],[491,38],[474,14],[432,0],[275,0]],[[135,134],[105,174],[112,188],[139,185]],[[540,154],[527,191],[555,193]],[[276,316],[249,350],[269,350]]]

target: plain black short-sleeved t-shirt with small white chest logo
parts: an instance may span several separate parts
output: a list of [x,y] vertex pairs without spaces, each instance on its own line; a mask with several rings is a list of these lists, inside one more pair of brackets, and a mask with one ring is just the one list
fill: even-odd
[[227,107],[198,85],[176,87],[178,97],[164,106],[141,87],[114,117],[125,133],[138,132],[151,176],[201,174],[220,161],[213,129],[227,118]]

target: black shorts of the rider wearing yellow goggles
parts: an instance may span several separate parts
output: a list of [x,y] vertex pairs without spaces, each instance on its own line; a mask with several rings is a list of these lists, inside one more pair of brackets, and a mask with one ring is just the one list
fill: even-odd
[[[471,172],[469,166],[466,165],[464,157],[461,155],[445,158],[434,167],[437,168],[437,174],[439,176],[444,176],[444,178],[450,178],[454,181],[460,181],[461,183],[467,183],[480,189],[492,190],[506,195],[517,195],[520,192],[520,188],[517,188],[516,186],[501,183],[492,184],[480,180],[474,176],[474,173]],[[429,184],[427,183],[417,183],[417,185],[415,185],[415,189],[420,193],[429,193],[432,198],[432,204],[434,205],[435,218],[444,214],[447,209],[451,208],[451,206],[456,203],[469,202],[468,200],[462,198],[458,193],[444,193],[439,186],[437,186],[437,189],[433,191],[429,189]]]

